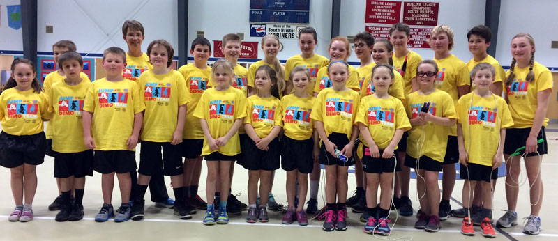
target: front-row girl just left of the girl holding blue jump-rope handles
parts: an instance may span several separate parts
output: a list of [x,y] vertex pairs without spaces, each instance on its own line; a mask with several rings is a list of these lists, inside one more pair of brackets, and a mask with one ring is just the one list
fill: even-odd
[[[319,160],[318,140],[312,140],[314,123],[310,119],[315,98],[307,91],[310,85],[310,72],[297,66],[290,72],[294,92],[281,99],[283,130],[281,140],[281,167],[287,171],[287,202],[289,209],[283,216],[283,224],[292,224],[296,219],[299,225],[308,225],[304,205],[295,208],[295,196],[299,203],[306,201],[308,191],[308,174],[314,169],[314,159]],[[296,193],[296,183],[299,193]]]

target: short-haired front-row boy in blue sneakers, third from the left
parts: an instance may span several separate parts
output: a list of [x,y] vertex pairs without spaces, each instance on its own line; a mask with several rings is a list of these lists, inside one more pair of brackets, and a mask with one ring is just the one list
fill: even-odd
[[85,146],[95,150],[93,169],[103,174],[103,207],[95,221],[107,221],[114,216],[110,190],[115,172],[120,183],[122,205],[114,221],[130,219],[130,171],[136,169],[135,146],[142,129],[145,105],[137,84],[122,77],[125,66],[124,50],[119,47],[106,49],[103,68],[107,70],[107,77],[93,81],[85,95],[82,112]]

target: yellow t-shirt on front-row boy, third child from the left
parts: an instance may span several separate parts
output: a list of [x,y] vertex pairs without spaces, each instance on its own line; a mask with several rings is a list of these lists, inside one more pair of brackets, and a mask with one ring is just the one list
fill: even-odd
[[128,79],[91,82],[83,110],[93,113],[95,150],[128,150],[126,142],[132,135],[134,115],[145,109],[140,93],[136,82]]

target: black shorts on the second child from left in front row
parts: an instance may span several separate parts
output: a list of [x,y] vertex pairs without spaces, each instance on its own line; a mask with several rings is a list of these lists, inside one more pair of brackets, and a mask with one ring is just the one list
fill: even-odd
[[93,176],[93,150],[59,153],[54,157],[54,178]]

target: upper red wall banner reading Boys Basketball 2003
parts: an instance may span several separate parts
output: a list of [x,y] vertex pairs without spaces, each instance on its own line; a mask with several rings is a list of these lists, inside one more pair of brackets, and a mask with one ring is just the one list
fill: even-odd
[[401,1],[366,1],[365,24],[396,24],[401,15]]

